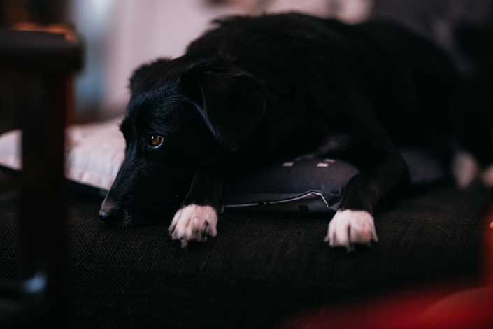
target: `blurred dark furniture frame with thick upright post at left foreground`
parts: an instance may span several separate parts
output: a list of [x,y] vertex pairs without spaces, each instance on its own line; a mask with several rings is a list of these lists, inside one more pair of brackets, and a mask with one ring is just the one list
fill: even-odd
[[0,288],[0,326],[59,328],[65,310],[67,81],[82,65],[64,34],[0,30],[0,68],[22,74],[18,286]]

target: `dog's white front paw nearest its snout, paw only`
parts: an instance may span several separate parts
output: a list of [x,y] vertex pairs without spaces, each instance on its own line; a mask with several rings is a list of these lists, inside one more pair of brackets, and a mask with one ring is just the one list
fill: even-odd
[[190,204],[178,210],[169,225],[171,237],[181,240],[182,248],[188,241],[206,241],[217,235],[217,213],[213,207]]

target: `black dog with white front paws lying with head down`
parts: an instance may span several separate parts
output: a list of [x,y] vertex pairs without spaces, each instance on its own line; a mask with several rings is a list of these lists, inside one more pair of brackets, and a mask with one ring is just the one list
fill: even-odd
[[455,133],[451,106],[460,103],[452,62],[393,25],[297,14],[217,24],[182,57],[131,77],[125,160],[101,206],[103,221],[148,223],[186,195],[171,236],[183,245],[205,241],[217,234],[225,176],[327,153],[360,172],[325,241],[347,248],[377,241],[373,211],[409,186],[398,146],[450,158],[444,141]]

